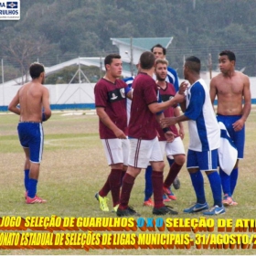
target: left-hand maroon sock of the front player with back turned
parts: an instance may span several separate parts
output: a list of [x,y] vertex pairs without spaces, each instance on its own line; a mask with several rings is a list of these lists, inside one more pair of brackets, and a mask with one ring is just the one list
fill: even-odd
[[[119,208],[124,209],[128,207],[128,202],[131,196],[131,191],[133,189],[134,177],[125,173],[123,176],[123,185],[120,197]],[[163,189],[162,189],[163,190]]]

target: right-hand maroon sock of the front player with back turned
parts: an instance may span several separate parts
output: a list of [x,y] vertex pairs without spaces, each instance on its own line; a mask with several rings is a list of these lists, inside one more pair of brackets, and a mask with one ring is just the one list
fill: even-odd
[[152,172],[152,186],[154,193],[155,208],[162,208],[165,206],[163,203],[163,180],[163,172]]

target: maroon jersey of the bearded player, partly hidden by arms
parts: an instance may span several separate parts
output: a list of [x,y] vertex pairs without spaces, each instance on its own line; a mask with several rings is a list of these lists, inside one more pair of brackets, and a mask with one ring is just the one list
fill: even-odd
[[[162,89],[161,87],[159,88],[159,93],[162,101],[169,101],[171,100],[175,95],[176,95],[176,90],[175,87],[172,83],[166,82],[166,88]],[[168,109],[165,110],[164,114],[165,117],[173,117],[175,115],[175,108],[174,107],[169,107]],[[166,141],[165,138],[165,133],[163,132],[161,125],[157,123],[157,132],[159,133],[159,141]],[[178,132],[176,129],[176,125],[171,125],[170,127],[171,132],[175,133],[176,136],[178,136]]]

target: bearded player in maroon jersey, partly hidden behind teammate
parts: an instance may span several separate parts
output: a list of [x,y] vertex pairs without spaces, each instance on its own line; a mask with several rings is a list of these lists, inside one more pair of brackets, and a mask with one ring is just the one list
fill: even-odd
[[[166,82],[165,78],[167,75],[168,61],[166,59],[156,59],[155,60],[155,75],[156,75],[156,84],[159,88],[162,101],[168,101],[176,95],[176,90],[172,83]],[[177,105],[170,107],[165,110],[165,117],[175,116],[175,110]],[[171,125],[169,127],[170,131],[175,134],[175,140],[172,143],[167,143],[165,134],[158,123],[157,132],[159,134],[158,140],[160,142],[162,153],[169,158],[172,156],[174,158],[174,163],[170,166],[169,173],[165,178],[164,182],[164,193],[166,195],[171,195],[169,187],[173,184],[177,174],[181,170],[182,166],[185,163],[185,149],[182,143],[182,140],[176,129],[176,125]]]

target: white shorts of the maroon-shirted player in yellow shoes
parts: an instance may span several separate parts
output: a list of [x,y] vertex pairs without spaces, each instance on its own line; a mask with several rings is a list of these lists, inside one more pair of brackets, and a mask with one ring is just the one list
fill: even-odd
[[128,139],[102,139],[101,140],[109,165],[128,165],[130,142]]

